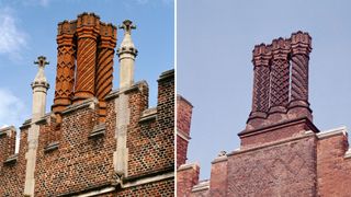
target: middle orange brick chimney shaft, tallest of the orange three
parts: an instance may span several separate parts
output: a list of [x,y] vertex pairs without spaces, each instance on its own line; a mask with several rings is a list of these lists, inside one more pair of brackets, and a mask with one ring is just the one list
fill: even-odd
[[82,13],[77,20],[77,73],[73,103],[94,96],[97,39],[100,18],[93,13]]

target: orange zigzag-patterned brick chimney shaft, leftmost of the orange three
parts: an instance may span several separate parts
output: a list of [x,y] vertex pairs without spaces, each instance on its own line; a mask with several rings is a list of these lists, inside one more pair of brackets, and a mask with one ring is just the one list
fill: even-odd
[[71,104],[75,84],[75,54],[73,34],[76,23],[64,21],[58,23],[57,34],[57,74],[53,112],[60,113]]

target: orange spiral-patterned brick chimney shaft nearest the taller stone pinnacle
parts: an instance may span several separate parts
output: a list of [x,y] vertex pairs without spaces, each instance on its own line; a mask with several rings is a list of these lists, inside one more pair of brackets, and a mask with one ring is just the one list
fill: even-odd
[[97,65],[95,95],[99,100],[99,120],[104,121],[106,117],[106,103],[104,97],[112,91],[113,57],[116,46],[116,27],[112,24],[101,23],[101,39],[99,43]]

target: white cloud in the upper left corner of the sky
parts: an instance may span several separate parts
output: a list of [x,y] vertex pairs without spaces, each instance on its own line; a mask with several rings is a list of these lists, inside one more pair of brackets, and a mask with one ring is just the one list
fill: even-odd
[[11,59],[21,58],[27,35],[18,27],[18,19],[9,8],[0,9],[0,54]]

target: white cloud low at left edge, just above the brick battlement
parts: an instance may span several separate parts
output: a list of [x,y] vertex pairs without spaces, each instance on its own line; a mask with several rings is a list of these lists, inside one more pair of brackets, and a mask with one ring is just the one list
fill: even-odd
[[20,126],[24,121],[24,103],[12,92],[0,88],[0,127]]

